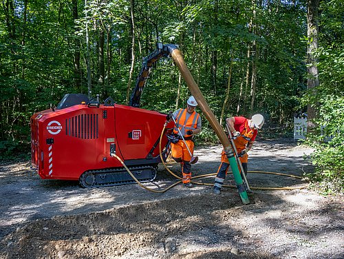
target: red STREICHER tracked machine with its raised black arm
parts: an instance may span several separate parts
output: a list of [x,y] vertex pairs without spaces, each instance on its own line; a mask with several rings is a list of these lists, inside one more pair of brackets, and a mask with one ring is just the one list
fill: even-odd
[[[32,166],[43,179],[79,180],[83,187],[135,183],[117,158],[142,182],[154,180],[160,158],[160,135],[166,114],[140,109],[140,96],[160,57],[175,45],[158,44],[144,59],[129,106],[112,99],[89,100],[84,94],[66,94],[56,109],[31,117]],[[168,125],[169,129],[173,123]],[[166,160],[170,141],[162,138]]]

